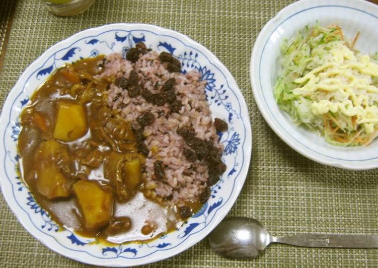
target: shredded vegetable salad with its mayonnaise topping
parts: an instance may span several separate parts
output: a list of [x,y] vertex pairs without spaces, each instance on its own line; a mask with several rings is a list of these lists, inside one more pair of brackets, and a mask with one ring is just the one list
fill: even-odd
[[378,53],[364,55],[337,25],[305,27],[281,44],[274,87],[296,125],[338,146],[368,145],[378,136]]

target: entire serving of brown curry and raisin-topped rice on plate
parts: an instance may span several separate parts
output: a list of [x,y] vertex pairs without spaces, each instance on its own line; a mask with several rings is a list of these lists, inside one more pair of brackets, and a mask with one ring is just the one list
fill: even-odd
[[21,175],[61,226],[113,243],[179,228],[226,166],[205,81],[170,53],[126,53],[56,70],[21,115]]

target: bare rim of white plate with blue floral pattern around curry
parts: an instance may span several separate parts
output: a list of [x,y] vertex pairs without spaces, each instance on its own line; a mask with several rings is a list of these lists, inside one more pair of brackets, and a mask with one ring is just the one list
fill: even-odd
[[[58,225],[35,202],[18,173],[17,140],[19,116],[31,94],[64,63],[81,57],[119,52],[143,41],[156,51],[171,52],[182,63],[182,71],[197,70],[206,80],[206,96],[213,117],[226,119],[229,130],[220,136],[227,170],[212,186],[202,209],[179,230],[147,243],[117,246],[91,243]],[[162,260],[182,252],[207,236],[232,208],[247,176],[252,151],[251,124],[247,105],[228,69],[206,48],[185,35],[144,24],[111,24],[79,32],[49,48],[21,75],[11,90],[0,119],[2,143],[1,188],[20,223],[36,239],[69,258],[96,265],[133,266]]]

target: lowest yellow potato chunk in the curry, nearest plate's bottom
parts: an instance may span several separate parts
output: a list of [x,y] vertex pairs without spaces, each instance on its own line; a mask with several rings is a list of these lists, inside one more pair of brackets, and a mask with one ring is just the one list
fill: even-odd
[[111,192],[101,189],[95,182],[84,180],[73,184],[73,191],[78,197],[86,228],[100,228],[109,223],[113,211]]

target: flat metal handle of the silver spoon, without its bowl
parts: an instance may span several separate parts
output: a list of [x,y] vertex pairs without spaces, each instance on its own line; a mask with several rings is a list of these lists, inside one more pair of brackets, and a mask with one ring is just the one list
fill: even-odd
[[303,247],[378,248],[378,235],[299,234],[273,237],[272,242]]

